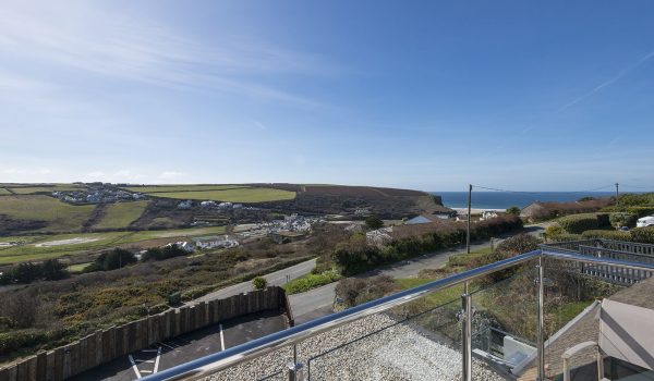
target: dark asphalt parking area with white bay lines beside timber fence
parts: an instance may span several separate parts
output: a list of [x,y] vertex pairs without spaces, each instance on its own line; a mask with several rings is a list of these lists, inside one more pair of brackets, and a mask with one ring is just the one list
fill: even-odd
[[279,332],[287,318],[278,312],[263,312],[233,319],[221,325],[197,330],[157,343],[111,362],[78,374],[74,381],[131,381],[172,368],[199,357]]

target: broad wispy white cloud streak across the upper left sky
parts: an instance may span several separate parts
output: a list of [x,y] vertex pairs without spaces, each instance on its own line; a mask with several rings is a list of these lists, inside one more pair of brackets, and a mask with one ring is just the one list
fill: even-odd
[[[266,85],[263,77],[271,73],[332,75],[338,72],[335,65],[326,64],[325,59],[312,54],[234,36],[208,46],[168,25],[117,14],[92,3],[76,3],[73,11],[60,4],[3,4],[0,57],[3,56],[117,81],[207,88],[310,105],[317,102]],[[35,84],[9,85],[27,88]]]

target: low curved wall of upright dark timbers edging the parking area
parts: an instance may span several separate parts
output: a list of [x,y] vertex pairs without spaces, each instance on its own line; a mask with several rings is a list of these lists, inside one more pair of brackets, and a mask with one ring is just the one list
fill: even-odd
[[60,381],[155,343],[265,310],[288,311],[280,287],[169,309],[131,323],[96,331],[65,346],[41,352],[0,369],[0,381]]

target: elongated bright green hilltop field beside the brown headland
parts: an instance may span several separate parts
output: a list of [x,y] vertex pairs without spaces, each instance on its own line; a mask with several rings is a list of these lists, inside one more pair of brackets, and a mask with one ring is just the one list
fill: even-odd
[[215,200],[229,202],[265,202],[289,200],[295,198],[294,192],[274,188],[237,188],[226,190],[169,192],[149,193],[148,195],[164,198]]

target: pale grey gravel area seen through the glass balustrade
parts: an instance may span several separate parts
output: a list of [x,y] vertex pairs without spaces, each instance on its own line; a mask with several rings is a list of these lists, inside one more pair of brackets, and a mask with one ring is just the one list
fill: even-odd
[[[385,330],[371,334],[382,329]],[[358,341],[352,342],[354,340]],[[350,344],[341,346],[347,343]],[[292,349],[288,347],[205,380],[288,380],[286,369],[291,359]],[[312,381],[449,381],[461,378],[461,354],[458,351],[426,337],[408,324],[396,324],[386,315],[367,317],[306,340],[298,345],[298,359],[305,366],[308,364],[306,370]],[[473,380],[505,379],[473,358]]]

